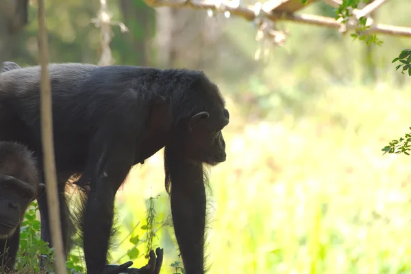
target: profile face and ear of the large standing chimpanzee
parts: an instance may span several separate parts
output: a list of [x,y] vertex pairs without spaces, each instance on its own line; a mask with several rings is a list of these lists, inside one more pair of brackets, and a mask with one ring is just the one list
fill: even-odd
[[224,162],[225,141],[221,130],[228,123],[229,112],[225,108],[193,115],[188,121],[184,142],[186,156],[212,166]]

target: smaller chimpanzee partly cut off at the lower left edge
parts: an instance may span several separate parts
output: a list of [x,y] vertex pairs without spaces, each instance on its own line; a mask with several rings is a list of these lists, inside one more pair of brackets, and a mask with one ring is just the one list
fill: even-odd
[[29,203],[45,192],[32,152],[16,142],[0,142],[0,269],[14,268],[20,226]]

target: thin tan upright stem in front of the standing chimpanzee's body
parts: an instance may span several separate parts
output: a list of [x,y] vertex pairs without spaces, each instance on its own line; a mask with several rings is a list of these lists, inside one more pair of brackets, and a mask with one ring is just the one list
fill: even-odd
[[51,87],[47,63],[49,59],[47,45],[47,27],[45,18],[44,0],[38,0],[38,51],[41,66],[41,93],[40,116],[41,138],[43,149],[43,164],[45,182],[47,184],[47,204],[49,207],[49,223],[51,241],[54,247],[56,273],[66,273],[66,264],[63,251],[62,228],[60,225],[60,204],[58,201],[57,178],[55,175],[54,145],[53,145],[53,120],[51,112]]

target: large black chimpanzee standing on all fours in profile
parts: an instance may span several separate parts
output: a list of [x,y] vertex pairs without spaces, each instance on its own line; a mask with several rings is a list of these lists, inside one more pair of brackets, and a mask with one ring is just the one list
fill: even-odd
[[[105,265],[114,197],[129,169],[163,147],[166,190],[184,268],[188,274],[204,273],[203,164],[225,161],[221,130],[229,123],[219,88],[202,72],[187,69],[50,64],[49,75],[60,192],[77,174],[76,184],[86,193],[80,226],[88,273],[123,272],[120,266]],[[39,87],[39,66],[0,74],[0,140],[29,146],[42,170]],[[42,238],[50,242],[45,197],[38,203]],[[60,206],[67,253],[71,221],[64,195]],[[140,273],[133,271],[125,272]]]

